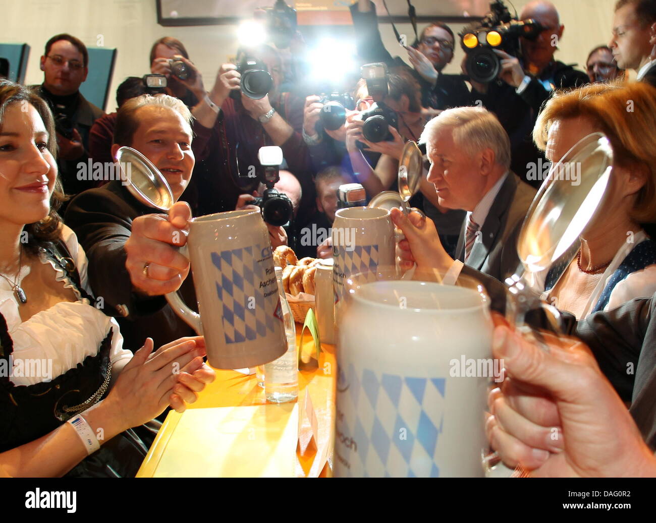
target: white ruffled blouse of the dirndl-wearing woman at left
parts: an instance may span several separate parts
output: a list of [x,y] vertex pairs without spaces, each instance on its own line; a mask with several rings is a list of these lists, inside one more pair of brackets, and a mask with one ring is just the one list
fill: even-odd
[[[62,231],[62,238],[74,257],[83,288],[91,295],[84,250],[79,246],[75,233],[66,226]],[[39,258],[41,263],[51,265],[52,276],[56,281],[64,282],[65,288],[75,292],[77,301],[60,301],[24,322],[20,319],[20,305],[16,301],[12,286],[5,279],[0,279],[0,313],[7,321],[9,336],[14,345],[13,376],[10,376],[10,381],[14,385],[51,381],[75,368],[87,356],[95,356],[110,330],[113,330],[110,349],[112,364],[132,358],[131,351],[123,349],[123,336],[117,322],[94,307],[88,299],[82,298],[75,285],[47,252],[42,250]],[[30,267],[23,267],[20,281],[28,274]],[[27,298],[29,300],[30,296]],[[33,372],[38,369],[41,369],[40,372]]]

